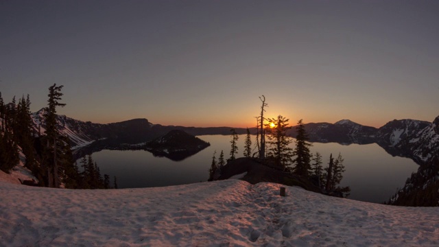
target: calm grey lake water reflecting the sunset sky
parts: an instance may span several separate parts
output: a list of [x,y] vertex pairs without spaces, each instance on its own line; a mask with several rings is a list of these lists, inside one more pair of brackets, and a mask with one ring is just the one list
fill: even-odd
[[[183,161],[154,157],[150,152],[102,150],[94,153],[93,159],[102,174],[117,176],[119,188],[162,187],[199,183],[209,177],[213,152],[218,158],[221,150],[228,158],[230,136],[199,136],[211,146]],[[239,156],[244,152],[245,135],[239,136]],[[254,136],[253,136],[254,138]],[[254,143],[254,140],[253,140]],[[338,143],[312,143],[311,152],[320,152],[323,165],[327,166],[329,154],[335,158],[341,152],[344,157],[344,178],[342,186],[351,187],[351,198],[366,202],[384,202],[403,187],[405,180],[418,169],[409,158],[392,157],[377,144],[341,145]],[[292,145],[294,147],[294,143]]]

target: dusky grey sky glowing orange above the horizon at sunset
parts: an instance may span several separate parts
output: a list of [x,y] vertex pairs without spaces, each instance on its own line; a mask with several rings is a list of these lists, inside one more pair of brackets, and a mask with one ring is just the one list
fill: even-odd
[[438,1],[0,1],[0,92],[110,123],[439,115]]

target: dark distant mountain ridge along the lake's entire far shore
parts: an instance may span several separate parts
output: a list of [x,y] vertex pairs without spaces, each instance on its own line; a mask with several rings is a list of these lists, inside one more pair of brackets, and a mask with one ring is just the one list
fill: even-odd
[[[32,113],[36,132],[43,133],[43,111],[44,108],[36,113]],[[439,116],[435,121],[439,122]],[[143,143],[152,141],[170,130],[183,130],[188,134],[230,134],[233,127],[186,127],[186,126],[163,126],[152,124],[145,118],[130,119],[110,124],[95,124],[91,121],[81,121],[58,115],[58,129],[63,134],[69,136],[73,149],[82,148],[91,143],[109,139],[119,143]],[[349,119],[342,119],[330,124],[327,122],[305,124],[305,130],[309,135],[309,141],[329,143],[337,142],[344,145],[351,143],[369,144],[378,143],[382,148],[392,155],[401,154],[414,150],[416,140],[428,141],[427,137],[420,139],[420,132],[425,128],[432,128],[434,122],[420,121],[414,119],[392,120],[380,128],[363,126]],[[439,124],[435,125],[439,129]],[[287,132],[292,137],[296,137],[296,126]],[[234,128],[238,134],[245,134],[246,128]],[[249,128],[251,134],[256,134],[256,128]],[[438,131],[439,132],[439,131]],[[410,146],[412,148],[408,148]],[[419,162],[425,161],[425,156],[416,153]]]

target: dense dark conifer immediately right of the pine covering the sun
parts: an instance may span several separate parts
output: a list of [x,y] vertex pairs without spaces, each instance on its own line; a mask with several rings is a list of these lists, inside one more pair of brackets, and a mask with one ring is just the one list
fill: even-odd
[[309,147],[311,143],[308,143],[308,135],[303,125],[302,119],[300,119],[296,126],[296,148],[294,149],[294,174],[307,178],[311,172],[311,152]]

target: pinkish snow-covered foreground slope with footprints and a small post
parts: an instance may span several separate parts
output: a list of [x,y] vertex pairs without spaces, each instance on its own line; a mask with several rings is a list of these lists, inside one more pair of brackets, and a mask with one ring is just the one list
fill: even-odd
[[0,246],[438,246],[439,208],[241,180],[69,190],[0,182]]

